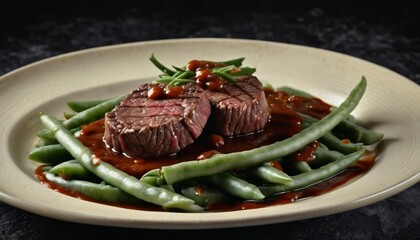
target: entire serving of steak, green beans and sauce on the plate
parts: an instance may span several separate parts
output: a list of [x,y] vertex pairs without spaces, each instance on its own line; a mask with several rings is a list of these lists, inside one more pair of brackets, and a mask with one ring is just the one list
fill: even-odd
[[45,186],[149,211],[232,211],[323,194],[375,161],[383,134],[350,115],[364,77],[332,106],[263,85],[245,58],[150,61],[162,72],[155,81],[124,96],[69,100],[63,120],[41,114],[28,158],[42,164]]

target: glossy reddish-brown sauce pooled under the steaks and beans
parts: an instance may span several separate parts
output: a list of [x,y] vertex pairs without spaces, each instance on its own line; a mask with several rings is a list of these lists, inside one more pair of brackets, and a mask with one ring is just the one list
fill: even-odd
[[[199,63],[192,62],[190,64],[194,65]],[[194,65],[194,67],[197,66]],[[191,68],[193,69],[193,67]],[[311,115],[315,118],[322,118],[330,113],[331,106],[318,98],[309,99],[298,97],[289,95],[286,92],[273,91],[270,89],[264,89],[264,91],[267,101],[271,107],[271,119],[263,131],[241,137],[223,138],[209,132],[207,129],[204,129],[202,135],[195,143],[180,151],[176,154],[176,156],[168,156],[160,159],[144,159],[140,157],[127,157],[123,154],[113,152],[105,146],[105,143],[102,140],[104,132],[104,119],[100,119],[96,122],[83,126],[82,134],[79,137],[79,140],[91,149],[100,161],[105,161],[127,174],[140,178],[144,173],[165,165],[172,165],[194,159],[205,159],[211,157],[211,155],[215,153],[230,153],[249,150],[288,138],[301,131],[302,119],[295,111]],[[295,161],[310,161],[313,158],[313,152],[316,151],[318,146],[319,144],[317,142],[312,142],[301,151],[292,154],[290,157],[292,157]],[[228,204],[213,204],[208,206],[208,211],[234,211],[261,208],[272,205],[287,204],[300,199],[318,196],[340,187],[367,172],[375,162],[375,157],[375,154],[367,152],[366,155],[354,166],[337,176],[334,176],[333,178],[301,190],[278,194],[270,197],[264,202],[232,202]],[[279,169],[282,168],[278,162],[272,162],[275,167]],[[64,188],[49,182],[42,174],[41,167],[36,170],[36,175],[44,185],[54,189],[55,191],[91,201],[78,193],[69,192]],[[109,205],[149,211],[162,211],[159,206],[153,206],[152,204],[145,204],[142,206],[129,206],[121,204]]]

